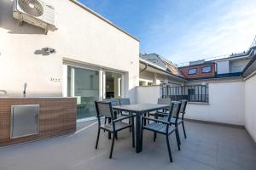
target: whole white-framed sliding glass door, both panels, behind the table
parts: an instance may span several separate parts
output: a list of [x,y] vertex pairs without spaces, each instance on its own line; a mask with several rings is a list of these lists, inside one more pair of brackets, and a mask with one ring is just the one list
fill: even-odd
[[96,116],[95,101],[125,96],[125,74],[63,65],[63,96],[77,99],[77,119]]

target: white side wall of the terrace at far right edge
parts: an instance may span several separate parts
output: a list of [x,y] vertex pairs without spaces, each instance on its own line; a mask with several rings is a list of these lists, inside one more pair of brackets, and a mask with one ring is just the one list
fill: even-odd
[[245,81],[245,127],[256,142],[256,74]]

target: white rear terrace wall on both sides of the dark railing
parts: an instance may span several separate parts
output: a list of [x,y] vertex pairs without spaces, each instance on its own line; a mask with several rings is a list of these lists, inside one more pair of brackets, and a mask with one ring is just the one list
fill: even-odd
[[[137,103],[156,103],[160,87],[137,87]],[[209,103],[189,103],[189,119],[244,125],[244,82],[209,82]]]

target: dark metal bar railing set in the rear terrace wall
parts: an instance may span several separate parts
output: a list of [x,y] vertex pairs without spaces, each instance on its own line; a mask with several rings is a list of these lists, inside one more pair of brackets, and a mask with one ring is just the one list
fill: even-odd
[[162,86],[162,98],[172,100],[187,99],[189,102],[208,102],[208,85],[192,85],[192,86]]

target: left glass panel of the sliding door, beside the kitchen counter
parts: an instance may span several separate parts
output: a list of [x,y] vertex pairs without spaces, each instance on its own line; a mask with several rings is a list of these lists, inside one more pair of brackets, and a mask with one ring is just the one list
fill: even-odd
[[99,80],[99,71],[67,66],[67,96],[77,98],[78,119],[96,116]]

